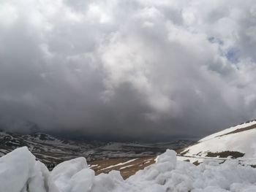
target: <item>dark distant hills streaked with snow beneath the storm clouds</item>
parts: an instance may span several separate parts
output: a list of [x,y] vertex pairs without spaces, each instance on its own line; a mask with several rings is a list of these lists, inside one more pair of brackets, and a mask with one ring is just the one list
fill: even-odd
[[27,146],[29,150],[48,168],[76,157],[86,157],[87,161],[102,158],[134,158],[159,155],[167,148],[176,150],[187,147],[191,141],[140,143],[140,142],[101,142],[61,139],[49,134],[13,134],[0,131],[0,156],[18,147]]

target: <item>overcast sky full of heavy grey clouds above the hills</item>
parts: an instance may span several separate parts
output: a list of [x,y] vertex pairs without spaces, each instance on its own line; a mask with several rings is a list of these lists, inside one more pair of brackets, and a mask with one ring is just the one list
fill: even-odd
[[0,127],[200,138],[256,117],[254,0],[0,0]]

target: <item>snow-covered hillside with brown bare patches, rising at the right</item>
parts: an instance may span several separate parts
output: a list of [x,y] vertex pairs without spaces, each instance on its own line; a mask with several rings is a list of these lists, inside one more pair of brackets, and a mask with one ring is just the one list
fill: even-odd
[[256,120],[227,128],[200,139],[181,151],[181,158],[238,158],[256,164]]

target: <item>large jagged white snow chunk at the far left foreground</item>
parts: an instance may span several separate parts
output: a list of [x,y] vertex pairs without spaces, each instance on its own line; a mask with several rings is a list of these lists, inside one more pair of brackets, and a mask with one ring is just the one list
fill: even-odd
[[35,161],[27,147],[20,147],[0,158],[0,191],[46,192],[48,169]]

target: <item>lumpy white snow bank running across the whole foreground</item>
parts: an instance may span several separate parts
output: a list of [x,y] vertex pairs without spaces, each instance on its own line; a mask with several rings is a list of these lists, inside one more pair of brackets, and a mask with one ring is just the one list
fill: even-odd
[[0,192],[82,191],[256,191],[256,169],[235,160],[224,164],[205,161],[195,166],[176,161],[176,153],[167,150],[156,164],[123,180],[117,171],[95,176],[85,158],[65,161],[49,172],[26,147],[0,158]]

